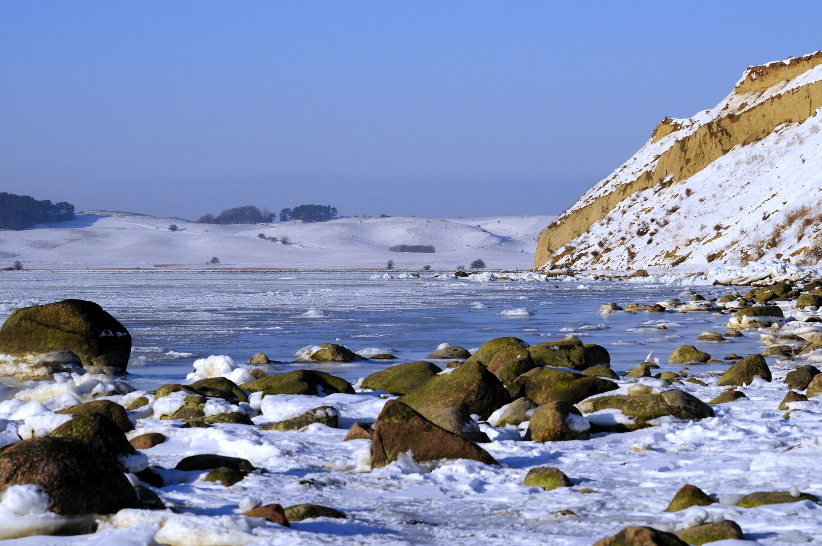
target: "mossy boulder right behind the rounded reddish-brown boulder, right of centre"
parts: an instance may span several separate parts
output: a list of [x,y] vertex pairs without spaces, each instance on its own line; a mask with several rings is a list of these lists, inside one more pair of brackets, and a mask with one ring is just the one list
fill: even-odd
[[529,374],[521,394],[537,404],[565,400],[576,404],[589,396],[619,388],[617,383],[601,377],[587,376],[556,368],[541,368]]

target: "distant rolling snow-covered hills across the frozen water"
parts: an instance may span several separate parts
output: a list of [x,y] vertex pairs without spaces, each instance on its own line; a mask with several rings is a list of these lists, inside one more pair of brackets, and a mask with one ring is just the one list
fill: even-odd
[[[202,268],[289,270],[455,269],[482,259],[491,269],[533,266],[537,238],[556,216],[433,219],[342,218],[305,224],[196,224],[130,212],[85,211],[75,220],[0,232],[0,260],[26,269]],[[178,231],[170,231],[176,224]],[[274,243],[259,238],[277,238]],[[279,243],[287,236],[291,244]],[[398,244],[432,245],[434,253],[390,252]]]

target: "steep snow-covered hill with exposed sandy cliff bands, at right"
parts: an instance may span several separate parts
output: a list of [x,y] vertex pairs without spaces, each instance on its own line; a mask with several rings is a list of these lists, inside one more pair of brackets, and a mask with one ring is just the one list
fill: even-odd
[[750,67],[717,107],[667,118],[541,235],[535,265],[794,264],[822,257],[822,52]]

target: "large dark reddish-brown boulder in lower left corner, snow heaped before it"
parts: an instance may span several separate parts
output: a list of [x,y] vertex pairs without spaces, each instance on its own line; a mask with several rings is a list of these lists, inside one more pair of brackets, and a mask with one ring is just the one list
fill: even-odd
[[35,437],[0,447],[0,491],[22,484],[39,485],[51,497],[52,511],[62,515],[113,514],[137,506],[134,488],[117,465],[72,438]]

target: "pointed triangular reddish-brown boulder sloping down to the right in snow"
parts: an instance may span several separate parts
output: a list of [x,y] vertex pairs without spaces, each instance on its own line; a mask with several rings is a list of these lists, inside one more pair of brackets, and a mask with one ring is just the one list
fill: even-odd
[[[477,444],[459,434],[437,427],[422,414],[399,400],[388,400],[376,419],[371,445],[373,468],[397,460],[399,453],[411,451],[414,460],[471,459],[487,465],[496,460]],[[289,518],[291,519],[291,518]]]

